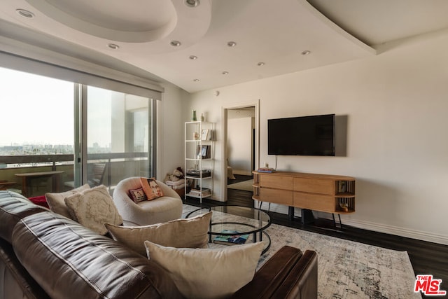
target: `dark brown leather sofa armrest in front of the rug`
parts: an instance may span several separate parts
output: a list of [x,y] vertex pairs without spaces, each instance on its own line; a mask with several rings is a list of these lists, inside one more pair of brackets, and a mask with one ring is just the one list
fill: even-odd
[[317,298],[317,253],[283,246],[232,298]]

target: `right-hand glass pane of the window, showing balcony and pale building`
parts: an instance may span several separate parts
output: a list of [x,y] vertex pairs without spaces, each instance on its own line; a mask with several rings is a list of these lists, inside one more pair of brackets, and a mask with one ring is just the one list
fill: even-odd
[[87,87],[87,181],[93,175],[113,187],[129,176],[153,174],[152,102],[147,97]]

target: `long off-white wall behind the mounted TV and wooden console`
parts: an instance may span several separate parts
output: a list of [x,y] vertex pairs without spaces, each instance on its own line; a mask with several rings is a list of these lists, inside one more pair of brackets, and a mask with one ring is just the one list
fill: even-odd
[[343,223],[448,244],[447,48],[446,33],[402,41],[364,60],[219,88],[219,97],[197,92],[190,108],[217,124],[215,169],[222,106],[260,99],[260,161],[269,165],[268,118],[348,116],[345,157],[279,156],[278,169],[354,176],[356,213]]

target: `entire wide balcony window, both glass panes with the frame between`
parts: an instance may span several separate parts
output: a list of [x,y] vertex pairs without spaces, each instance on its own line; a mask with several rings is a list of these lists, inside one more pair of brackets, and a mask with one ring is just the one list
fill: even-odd
[[112,190],[153,174],[153,99],[1,67],[0,80],[0,189]]

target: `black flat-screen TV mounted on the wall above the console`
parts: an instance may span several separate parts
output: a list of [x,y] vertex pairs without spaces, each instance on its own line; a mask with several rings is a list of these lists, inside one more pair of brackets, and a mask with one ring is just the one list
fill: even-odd
[[335,155],[335,114],[267,120],[269,155]]

